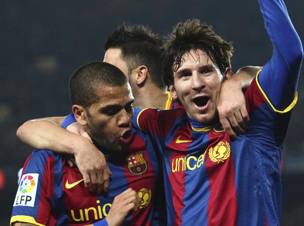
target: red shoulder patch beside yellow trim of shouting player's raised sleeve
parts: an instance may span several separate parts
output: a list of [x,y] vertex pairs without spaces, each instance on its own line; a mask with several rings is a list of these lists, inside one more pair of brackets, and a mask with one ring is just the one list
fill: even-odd
[[257,86],[256,79],[254,78],[245,92],[246,109],[248,114],[250,114],[254,109],[258,108],[265,101],[265,97],[261,93],[259,87]]

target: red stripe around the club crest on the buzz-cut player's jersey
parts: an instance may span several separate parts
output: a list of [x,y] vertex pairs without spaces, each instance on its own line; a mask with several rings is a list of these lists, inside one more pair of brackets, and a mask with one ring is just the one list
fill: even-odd
[[[141,175],[136,175],[132,173],[128,168],[128,161],[126,160],[130,155],[140,154],[142,153],[143,159],[141,161],[146,162],[146,171],[142,173]],[[149,204],[147,206],[140,206],[140,208],[131,215],[132,218],[132,225],[150,225],[150,221],[148,219],[149,217],[149,211],[153,205],[153,196],[154,196],[154,182],[155,182],[155,173],[153,166],[151,164],[151,161],[147,155],[146,151],[146,145],[145,142],[139,137],[138,134],[133,135],[131,144],[129,146],[129,149],[125,155],[122,155],[122,166],[124,169],[124,172],[126,174],[126,180],[128,183],[128,187],[132,188],[134,191],[139,192],[142,191],[141,194],[143,205],[147,200],[145,197],[149,198]],[[140,159],[140,158],[139,158]],[[144,168],[141,167],[141,168]],[[146,190],[144,190],[146,189]],[[144,192],[151,192],[151,196],[149,194],[145,195]]]

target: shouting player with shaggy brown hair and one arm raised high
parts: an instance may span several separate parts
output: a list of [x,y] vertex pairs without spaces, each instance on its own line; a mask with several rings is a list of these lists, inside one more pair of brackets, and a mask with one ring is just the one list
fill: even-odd
[[169,225],[279,225],[280,159],[303,58],[282,0],[258,0],[274,46],[245,93],[247,134],[218,126],[220,89],[231,77],[231,45],[198,20],[179,23],[165,43],[165,81],[184,110],[138,111],[133,122],[163,151]]

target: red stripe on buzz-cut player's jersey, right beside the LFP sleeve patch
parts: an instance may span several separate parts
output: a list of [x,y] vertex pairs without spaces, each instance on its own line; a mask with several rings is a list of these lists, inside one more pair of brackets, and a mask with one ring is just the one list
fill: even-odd
[[[44,173],[41,183],[41,194],[40,194],[40,203],[39,209],[37,212],[37,222],[42,222],[46,225],[55,225],[51,224],[50,220],[45,222],[46,219],[49,219],[51,216],[51,204],[50,200],[54,193],[54,158],[51,156],[47,157],[47,161],[44,166]],[[40,175],[42,176],[42,175]],[[52,218],[52,217],[51,217]]]

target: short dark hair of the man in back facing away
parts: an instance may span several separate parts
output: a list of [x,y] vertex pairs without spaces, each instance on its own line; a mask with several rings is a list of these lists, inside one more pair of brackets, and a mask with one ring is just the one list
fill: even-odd
[[145,65],[151,80],[158,87],[165,87],[162,78],[163,41],[151,32],[148,26],[123,23],[113,31],[104,44],[104,50],[121,49],[121,57],[126,61],[129,74],[140,65]]

